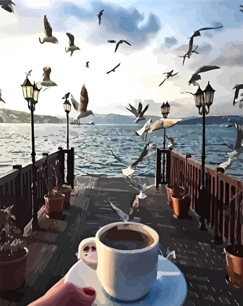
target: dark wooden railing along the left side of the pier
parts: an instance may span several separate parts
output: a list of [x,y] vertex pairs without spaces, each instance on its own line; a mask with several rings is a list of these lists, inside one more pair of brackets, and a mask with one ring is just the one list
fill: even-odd
[[[67,162],[65,167],[65,154]],[[59,166],[61,184],[68,183],[73,188],[74,180],[74,149],[62,150],[42,154],[43,158],[22,167],[13,166],[5,176],[0,177],[0,206],[1,209],[13,205],[12,213],[16,216],[16,223],[21,230],[31,222],[40,206],[45,204],[44,195],[48,189],[56,186],[55,167]],[[36,177],[36,188],[32,189],[33,169]],[[66,182],[64,180],[66,172]],[[32,191],[33,197],[32,197]]]

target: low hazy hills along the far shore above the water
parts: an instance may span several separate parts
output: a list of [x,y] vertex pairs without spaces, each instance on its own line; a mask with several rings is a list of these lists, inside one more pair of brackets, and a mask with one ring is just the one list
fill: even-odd
[[[86,118],[80,119],[80,123],[83,124],[89,123],[91,120],[95,124],[135,124],[134,116],[125,116],[125,115],[118,115],[118,114],[94,114],[93,116],[88,116]],[[146,121],[150,118],[152,122],[160,119],[159,116],[145,116]],[[70,118],[70,123],[74,121],[75,124],[77,123],[76,118]],[[138,125],[144,125],[145,120],[140,121]],[[30,113],[21,112],[18,110],[7,110],[7,109],[0,109],[0,123],[28,123],[30,122]],[[35,115],[34,114],[34,122],[35,123],[66,123],[66,117],[57,117],[57,116],[46,116],[46,115]],[[206,125],[213,125],[213,124],[243,124],[243,116],[206,116],[205,123]],[[178,122],[177,124],[183,125],[196,125],[202,124],[202,117],[189,117],[183,118],[182,121]]]

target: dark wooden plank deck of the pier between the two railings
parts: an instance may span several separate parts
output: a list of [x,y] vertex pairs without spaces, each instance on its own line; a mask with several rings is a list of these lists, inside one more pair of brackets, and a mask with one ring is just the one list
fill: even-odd
[[[82,239],[94,236],[105,224],[119,221],[106,199],[129,214],[136,194],[136,189],[124,178],[79,177],[70,209],[63,212],[65,220],[52,221],[48,231],[33,232],[26,237],[30,254],[25,284],[15,293],[2,293],[1,305],[26,306],[41,297],[77,262],[75,253]],[[192,220],[173,217],[164,186],[159,190],[154,186],[146,194],[147,198],[139,200],[139,209],[134,214],[159,233],[164,255],[167,248],[175,250],[176,259],[172,261],[184,273],[188,285],[184,306],[241,306],[242,292],[230,289],[225,281],[222,246],[212,241],[210,233],[198,230],[194,215]]]

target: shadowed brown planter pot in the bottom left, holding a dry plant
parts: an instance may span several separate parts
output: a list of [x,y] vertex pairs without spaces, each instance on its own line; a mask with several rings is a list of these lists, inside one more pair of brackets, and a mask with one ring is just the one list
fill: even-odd
[[[28,249],[21,249],[21,257],[0,262],[0,290],[16,290],[23,285]],[[25,254],[24,254],[25,253]],[[23,255],[24,254],[24,255]]]

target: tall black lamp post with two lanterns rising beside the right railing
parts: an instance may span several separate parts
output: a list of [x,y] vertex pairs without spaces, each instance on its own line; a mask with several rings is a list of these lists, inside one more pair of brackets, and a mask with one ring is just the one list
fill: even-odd
[[[205,182],[205,115],[209,114],[209,107],[213,104],[213,96],[215,90],[211,87],[208,82],[205,90],[202,91],[200,86],[194,94],[195,105],[198,107],[198,114],[202,116],[202,184],[201,189],[204,190]],[[206,230],[204,217],[199,218],[199,228],[200,230]]]

